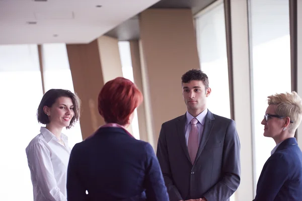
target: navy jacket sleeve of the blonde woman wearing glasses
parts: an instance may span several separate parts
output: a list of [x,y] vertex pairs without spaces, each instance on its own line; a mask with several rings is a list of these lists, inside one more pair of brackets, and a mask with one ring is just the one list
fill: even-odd
[[273,154],[264,165],[257,184],[255,201],[274,200],[289,174],[284,155]]

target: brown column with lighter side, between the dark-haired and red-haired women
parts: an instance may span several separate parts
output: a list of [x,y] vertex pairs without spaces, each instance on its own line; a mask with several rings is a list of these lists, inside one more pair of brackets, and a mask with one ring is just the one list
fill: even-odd
[[101,88],[107,81],[122,76],[118,40],[101,36],[89,44],[66,45],[66,48],[74,91],[82,100],[80,124],[86,139],[105,123],[98,112]]

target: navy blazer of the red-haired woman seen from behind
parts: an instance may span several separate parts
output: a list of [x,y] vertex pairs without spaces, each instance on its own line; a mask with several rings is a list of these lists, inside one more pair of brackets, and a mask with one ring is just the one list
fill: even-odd
[[73,147],[67,199],[168,201],[169,197],[152,146],[122,128],[107,127]]

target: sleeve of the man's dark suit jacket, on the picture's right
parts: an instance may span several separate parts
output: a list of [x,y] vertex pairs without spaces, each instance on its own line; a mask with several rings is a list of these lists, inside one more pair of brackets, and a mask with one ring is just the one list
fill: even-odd
[[225,133],[221,171],[221,180],[204,194],[208,201],[230,198],[240,184],[240,141],[233,120]]

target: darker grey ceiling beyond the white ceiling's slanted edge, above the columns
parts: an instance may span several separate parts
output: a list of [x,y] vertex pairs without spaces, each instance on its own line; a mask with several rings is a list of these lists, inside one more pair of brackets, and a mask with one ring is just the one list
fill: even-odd
[[[216,0],[162,0],[151,9],[191,9],[192,14],[196,14],[206,8]],[[121,23],[114,29],[106,33],[107,36],[118,38],[121,41],[135,40],[139,38],[139,22],[138,15]]]

